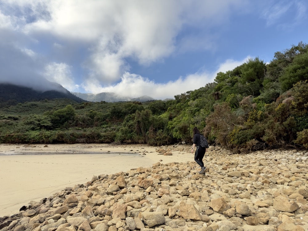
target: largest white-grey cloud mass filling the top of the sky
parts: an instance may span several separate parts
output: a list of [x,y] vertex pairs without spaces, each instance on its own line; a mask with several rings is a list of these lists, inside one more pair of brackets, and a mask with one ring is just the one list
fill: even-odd
[[245,8],[245,0],[8,0],[2,4],[7,6],[2,21],[18,25],[31,38],[48,37],[62,50],[65,41],[88,49],[82,67],[90,79],[104,83],[116,82],[130,71],[127,59],[150,65],[177,52],[215,48],[215,40],[206,34],[178,38],[179,33],[187,27],[213,28],[228,20],[233,9]]

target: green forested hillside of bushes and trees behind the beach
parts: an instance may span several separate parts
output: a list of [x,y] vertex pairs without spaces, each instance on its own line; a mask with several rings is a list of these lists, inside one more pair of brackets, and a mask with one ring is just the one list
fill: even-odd
[[238,152],[308,148],[308,45],[217,73],[175,100],[20,103],[0,111],[2,143],[192,142],[197,126],[212,145]]

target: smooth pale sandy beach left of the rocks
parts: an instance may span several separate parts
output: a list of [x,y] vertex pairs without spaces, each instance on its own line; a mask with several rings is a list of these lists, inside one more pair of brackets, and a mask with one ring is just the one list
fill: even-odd
[[0,144],[0,217],[93,176],[149,167],[160,160],[193,160],[188,146],[172,156],[158,155],[156,149],[138,144]]

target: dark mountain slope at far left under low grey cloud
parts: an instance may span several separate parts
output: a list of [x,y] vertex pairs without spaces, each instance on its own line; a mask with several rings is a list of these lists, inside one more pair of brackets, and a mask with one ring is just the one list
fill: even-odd
[[84,102],[85,100],[71,94],[64,87],[58,83],[51,83],[55,85],[57,90],[39,91],[30,87],[22,87],[8,83],[0,83],[0,106],[14,105],[26,101],[37,101],[43,99],[59,99],[66,98],[72,99],[77,103]]

